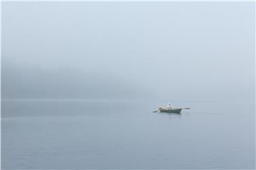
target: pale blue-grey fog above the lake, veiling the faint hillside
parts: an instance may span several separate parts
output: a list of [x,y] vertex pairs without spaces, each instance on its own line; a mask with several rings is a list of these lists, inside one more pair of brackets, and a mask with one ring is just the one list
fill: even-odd
[[3,98],[252,99],[254,77],[253,2],[2,4]]

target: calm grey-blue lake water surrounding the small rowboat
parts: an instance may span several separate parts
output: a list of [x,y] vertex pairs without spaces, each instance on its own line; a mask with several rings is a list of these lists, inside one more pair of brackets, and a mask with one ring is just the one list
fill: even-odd
[[3,169],[255,169],[248,101],[2,101]]

